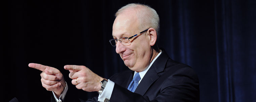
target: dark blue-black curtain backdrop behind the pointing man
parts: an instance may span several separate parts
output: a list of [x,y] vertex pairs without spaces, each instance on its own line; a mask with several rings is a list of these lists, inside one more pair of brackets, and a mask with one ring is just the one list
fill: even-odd
[[29,63],[59,69],[70,89],[64,65],[84,65],[105,78],[127,69],[108,40],[115,12],[128,3],[157,11],[159,46],[196,71],[201,102],[256,102],[255,0],[1,1],[1,102],[50,101],[41,71]]

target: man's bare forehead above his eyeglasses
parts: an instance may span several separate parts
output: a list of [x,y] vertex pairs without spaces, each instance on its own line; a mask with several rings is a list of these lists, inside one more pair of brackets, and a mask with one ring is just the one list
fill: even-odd
[[124,12],[119,14],[113,23],[113,37],[129,37],[135,34],[139,27],[139,20],[135,13]]

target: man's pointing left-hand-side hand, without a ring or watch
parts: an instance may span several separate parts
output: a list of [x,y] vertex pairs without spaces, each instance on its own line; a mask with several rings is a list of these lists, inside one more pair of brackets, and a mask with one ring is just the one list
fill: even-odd
[[66,87],[62,73],[56,68],[35,63],[30,63],[29,67],[43,71],[40,74],[42,86],[48,91],[54,91],[59,98]]

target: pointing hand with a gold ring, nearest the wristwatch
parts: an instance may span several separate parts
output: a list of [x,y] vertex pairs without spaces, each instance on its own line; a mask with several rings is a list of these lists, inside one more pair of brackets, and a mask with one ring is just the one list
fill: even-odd
[[99,91],[101,89],[100,81],[102,77],[93,73],[85,66],[66,65],[65,70],[69,70],[69,78],[73,79],[72,84],[76,85],[77,89],[82,89],[87,92]]

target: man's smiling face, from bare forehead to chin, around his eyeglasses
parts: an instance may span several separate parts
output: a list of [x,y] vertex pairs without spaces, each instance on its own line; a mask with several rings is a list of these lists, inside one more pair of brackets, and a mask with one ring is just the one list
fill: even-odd
[[[133,11],[127,11],[116,17],[112,35],[113,38],[119,39],[131,37],[143,30],[139,29],[139,20],[136,14]],[[131,45],[124,46],[119,41],[116,44],[116,53],[120,55],[129,69],[136,72],[143,71],[149,65],[152,57],[149,36],[145,33],[130,39]]]

